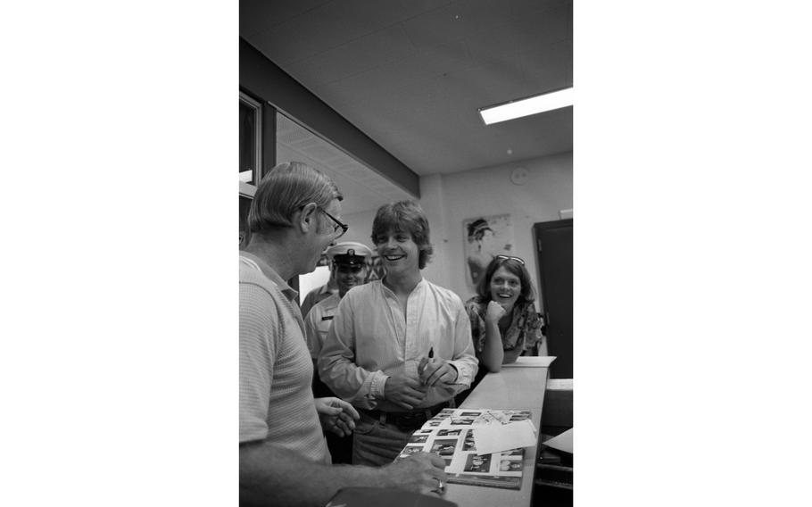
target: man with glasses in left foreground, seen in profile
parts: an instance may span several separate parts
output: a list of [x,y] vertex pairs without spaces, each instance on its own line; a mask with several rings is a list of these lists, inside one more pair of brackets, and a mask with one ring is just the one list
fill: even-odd
[[240,505],[324,505],[346,486],[443,493],[445,462],[427,453],[382,470],[330,466],[323,429],[348,435],[358,413],[336,397],[313,398],[302,314],[286,280],[314,270],[344,234],[341,199],[301,162],[270,170],[253,197],[239,264]]

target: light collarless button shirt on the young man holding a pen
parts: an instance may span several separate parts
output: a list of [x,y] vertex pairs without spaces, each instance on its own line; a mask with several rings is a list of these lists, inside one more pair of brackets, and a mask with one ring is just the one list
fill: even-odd
[[419,407],[449,400],[468,388],[477,361],[471,324],[460,296],[421,279],[403,315],[397,297],[381,280],[352,287],[338,304],[319,354],[319,375],[336,395],[362,409],[403,411],[384,400],[384,384],[394,374],[418,377],[418,363],[434,350],[459,372],[451,387],[428,389]]

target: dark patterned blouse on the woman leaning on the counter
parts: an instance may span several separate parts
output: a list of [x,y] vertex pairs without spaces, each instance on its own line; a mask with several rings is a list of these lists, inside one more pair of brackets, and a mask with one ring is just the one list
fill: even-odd
[[[478,295],[465,303],[468,318],[471,320],[471,338],[474,340],[476,358],[480,359],[485,348],[485,310],[488,303],[483,303]],[[534,304],[516,302],[513,306],[513,317],[510,326],[501,334],[501,344],[505,351],[502,364],[516,362],[521,353],[530,350],[534,345],[541,345],[542,320],[535,311]]]

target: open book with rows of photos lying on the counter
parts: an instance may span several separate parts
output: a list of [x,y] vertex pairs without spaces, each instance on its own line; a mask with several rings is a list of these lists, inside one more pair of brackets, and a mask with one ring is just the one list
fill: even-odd
[[412,434],[398,459],[425,451],[445,460],[448,482],[520,489],[526,449],[478,454],[474,428],[529,420],[529,410],[443,409]]

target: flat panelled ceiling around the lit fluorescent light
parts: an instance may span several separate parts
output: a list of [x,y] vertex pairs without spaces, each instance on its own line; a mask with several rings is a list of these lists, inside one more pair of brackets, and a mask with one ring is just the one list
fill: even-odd
[[506,145],[527,158],[572,149],[571,108],[522,129],[476,112],[571,86],[571,0],[279,4],[262,12],[281,22],[249,41],[418,174],[509,162]]

